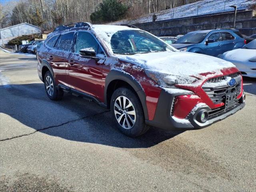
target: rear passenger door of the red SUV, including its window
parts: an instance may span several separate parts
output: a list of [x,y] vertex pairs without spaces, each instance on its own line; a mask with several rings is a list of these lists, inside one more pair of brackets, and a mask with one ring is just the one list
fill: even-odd
[[74,40],[74,32],[62,34],[54,47],[48,51],[47,60],[54,72],[54,79],[56,84],[68,84],[68,71],[66,70],[66,64],[68,62],[69,54],[72,49]]

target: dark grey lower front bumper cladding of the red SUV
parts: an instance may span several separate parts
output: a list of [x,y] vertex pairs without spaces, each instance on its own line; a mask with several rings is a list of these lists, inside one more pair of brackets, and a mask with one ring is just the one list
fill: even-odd
[[196,112],[193,114],[190,113],[186,119],[178,119],[171,115],[171,108],[172,108],[172,101],[176,96],[180,94],[169,94],[168,92],[162,90],[160,93],[160,97],[158,99],[158,104],[155,112],[154,119],[152,121],[146,120],[146,124],[150,126],[155,126],[158,128],[162,128],[165,130],[193,130],[193,129],[200,129],[210,126],[211,124],[218,122],[237,111],[244,108],[245,103],[239,102],[232,108],[229,108],[223,113],[214,116],[213,118],[207,120],[204,123],[200,123],[196,120],[196,116],[198,112],[202,109],[210,110],[210,107],[207,105],[199,107]]

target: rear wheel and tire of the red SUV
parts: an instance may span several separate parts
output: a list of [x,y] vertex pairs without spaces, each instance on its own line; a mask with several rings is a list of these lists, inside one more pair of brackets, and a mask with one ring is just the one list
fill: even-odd
[[50,71],[47,71],[44,75],[44,88],[50,100],[60,100],[64,95],[63,90],[56,88],[54,78]]

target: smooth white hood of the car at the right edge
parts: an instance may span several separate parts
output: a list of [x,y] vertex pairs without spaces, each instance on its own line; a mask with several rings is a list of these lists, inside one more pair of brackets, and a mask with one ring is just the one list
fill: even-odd
[[230,61],[248,61],[256,56],[255,49],[234,49],[223,54],[224,60]]

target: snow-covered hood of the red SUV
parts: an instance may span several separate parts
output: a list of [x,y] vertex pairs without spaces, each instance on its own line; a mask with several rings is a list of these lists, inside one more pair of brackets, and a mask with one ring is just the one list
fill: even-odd
[[182,51],[118,55],[118,58],[144,69],[185,76],[215,73],[224,68],[235,67],[231,62],[216,57]]

